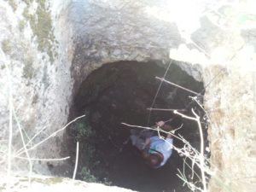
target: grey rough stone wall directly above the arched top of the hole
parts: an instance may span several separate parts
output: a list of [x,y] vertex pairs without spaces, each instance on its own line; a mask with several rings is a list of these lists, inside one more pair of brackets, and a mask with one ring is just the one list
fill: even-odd
[[169,48],[177,48],[182,42],[177,26],[146,13],[149,4],[162,6],[162,3],[74,2],[69,12],[75,42],[72,69],[74,90],[87,74],[104,63],[168,61]]

